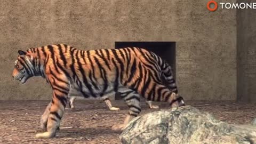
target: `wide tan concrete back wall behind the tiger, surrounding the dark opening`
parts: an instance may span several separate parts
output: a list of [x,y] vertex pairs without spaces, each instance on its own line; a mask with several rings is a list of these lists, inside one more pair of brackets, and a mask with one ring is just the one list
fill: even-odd
[[42,78],[25,85],[12,80],[19,49],[66,43],[88,50],[114,48],[116,41],[171,41],[177,42],[177,82],[186,100],[235,100],[236,10],[210,12],[207,2],[3,0],[0,99],[51,98]]

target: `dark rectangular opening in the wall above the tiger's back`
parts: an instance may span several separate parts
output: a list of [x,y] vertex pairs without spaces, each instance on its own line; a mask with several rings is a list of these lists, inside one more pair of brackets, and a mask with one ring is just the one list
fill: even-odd
[[172,67],[173,76],[176,78],[175,42],[116,42],[115,49],[123,47],[140,47],[159,55]]

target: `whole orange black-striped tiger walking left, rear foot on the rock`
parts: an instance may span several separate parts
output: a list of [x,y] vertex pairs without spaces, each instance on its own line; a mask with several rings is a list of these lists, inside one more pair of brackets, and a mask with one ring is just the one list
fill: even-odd
[[181,95],[169,89],[173,86],[171,67],[146,49],[85,51],[67,44],[53,44],[19,50],[18,54],[13,78],[25,84],[30,77],[41,76],[53,91],[41,117],[46,132],[37,133],[36,138],[55,137],[70,95],[101,98],[120,93],[129,112],[123,123],[111,127],[113,131],[124,130],[131,119],[140,114],[140,97],[169,102],[171,108],[185,106]]

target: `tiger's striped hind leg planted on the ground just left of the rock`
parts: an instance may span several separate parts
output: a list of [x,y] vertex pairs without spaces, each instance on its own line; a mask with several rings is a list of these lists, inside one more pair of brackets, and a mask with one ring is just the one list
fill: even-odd
[[120,92],[121,97],[124,99],[126,104],[129,107],[129,113],[124,119],[123,124],[116,124],[112,126],[112,130],[119,131],[123,130],[125,126],[134,118],[137,117],[140,114],[141,108],[140,108],[140,94],[133,90],[125,90]]

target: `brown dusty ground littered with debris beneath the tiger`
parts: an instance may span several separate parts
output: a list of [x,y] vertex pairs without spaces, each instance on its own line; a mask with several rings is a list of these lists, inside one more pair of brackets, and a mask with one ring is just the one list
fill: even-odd
[[[57,137],[35,139],[41,114],[49,101],[0,101],[0,143],[120,143],[121,132],[111,131],[111,126],[122,123],[128,109],[121,101],[113,102],[120,111],[109,111],[100,101],[77,101],[76,109],[66,109]],[[256,105],[234,102],[187,101],[188,105],[213,114],[232,124],[250,124],[256,117]],[[157,103],[167,109],[166,103]],[[149,113],[142,103],[142,113]]]

